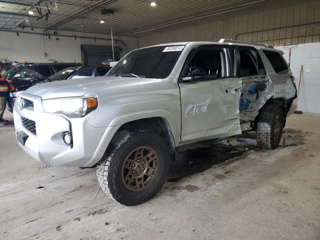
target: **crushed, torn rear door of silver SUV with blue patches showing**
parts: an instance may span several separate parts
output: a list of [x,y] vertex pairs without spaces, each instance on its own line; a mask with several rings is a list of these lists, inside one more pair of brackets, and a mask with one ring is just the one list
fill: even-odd
[[273,83],[264,75],[242,78],[242,91],[239,102],[240,121],[254,120],[264,103],[274,96]]

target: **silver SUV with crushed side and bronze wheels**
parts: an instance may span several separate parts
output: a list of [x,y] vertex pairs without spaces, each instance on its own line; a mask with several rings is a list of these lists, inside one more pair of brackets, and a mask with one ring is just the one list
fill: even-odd
[[14,125],[32,157],[97,164],[103,191],[136,205],[160,190],[179,145],[253,129],[259,147],[275,148],[295,98],[272,46],[177,42],[133,50],[105,76],[28,88],[14,104]]

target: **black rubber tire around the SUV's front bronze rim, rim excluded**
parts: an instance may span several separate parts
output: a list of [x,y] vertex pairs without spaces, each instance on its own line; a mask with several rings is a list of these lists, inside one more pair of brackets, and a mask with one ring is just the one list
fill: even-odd
[[[126,184],[123,182],[123,166],[126,164],[124,163],[124,160],[127,159],[128,155],[134,149],[140,146],[150,147],[156,152],[157,169],[156,172],[152,172],[154,173],[154,176],[146,188],[140,190],[137,186],[136,190],[131,190],[128,189]],[[170,150],[165,141],[153,131],[146,129],[120,130],[113,136],[105,151],[105,154],[97,163],[96,174],[98,182],[102,190],[113,200],[127,206],[140,204],[152,198],[161,189],[165,180],[166,172],[169,169],[169,152]],[[145,160],[145,162],[147,162],[147,160]],[[131,166],[134,165],[132,163],[130,164]],[[130,172],[130,174],[132,174],[131,177],[133,177],[133,173]],[[141,176],[142,173],[140,177]],[[135,175],[135,177],[138,176]],[[134,182],[135,181],[133,180],[133,183]],[[133,185],[135,185],[135,183]],[[129,186],[132,187],[131,185]]]

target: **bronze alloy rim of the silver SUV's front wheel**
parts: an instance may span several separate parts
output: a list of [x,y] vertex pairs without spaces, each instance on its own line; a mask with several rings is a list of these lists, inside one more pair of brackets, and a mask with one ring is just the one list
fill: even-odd
[[124,159],[121,170],[122,182],[131,191],[148,188],[156,176],[158,156],[149,146],[139,146]]

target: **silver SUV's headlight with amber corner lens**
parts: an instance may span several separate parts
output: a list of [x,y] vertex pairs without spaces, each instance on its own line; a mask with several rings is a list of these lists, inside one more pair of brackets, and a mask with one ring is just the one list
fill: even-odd
[[42,100],[45,112],[81,117],[96,109],[97,97],[62,97]]

